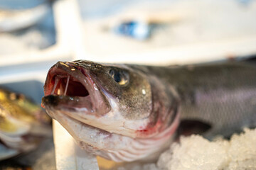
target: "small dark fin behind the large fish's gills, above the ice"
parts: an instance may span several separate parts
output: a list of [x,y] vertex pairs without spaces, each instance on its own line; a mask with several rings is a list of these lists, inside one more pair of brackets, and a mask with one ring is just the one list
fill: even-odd
[[206,131],[210,130],[212,126],[209,123],[204,123],[201,120],[181,120],[178,127],[178,135],[202,135]]

